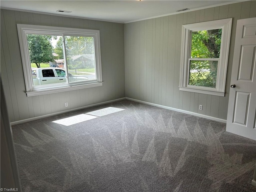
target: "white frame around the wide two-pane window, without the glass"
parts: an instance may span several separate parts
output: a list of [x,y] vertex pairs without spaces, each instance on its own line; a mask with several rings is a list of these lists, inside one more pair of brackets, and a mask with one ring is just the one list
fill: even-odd
[[[27,25],[27,24],[17,24],[17,29],[18,29],[18,37],[20,42],[20,53],[22,57],[22,66],[23,66],[27,96],[36,96],[36,95],[42,95],[42,94],[50,94],[50,93],[56,93],[56,92],[64,92],[64,91],[70,91],[70,90],[102,86],[103,82],[102,82],[100,31],[99,30],[39,26],[39,25]],[[30,63],[30,56],[28,51],[27,34],[56,35],[56,36],[62,36],[63,40],[64,40],[64,36],[94,37],[96,80],[89,80],[86,82],[76,82],[76,83],[72,82],[70,84],[65,83],[65,84],[48,84],[48,85],[42,85],[42,86],[33,86],[31,63]],[[65,52],[64,52],[64,60],[65,60],[65,63],[67,64]]]

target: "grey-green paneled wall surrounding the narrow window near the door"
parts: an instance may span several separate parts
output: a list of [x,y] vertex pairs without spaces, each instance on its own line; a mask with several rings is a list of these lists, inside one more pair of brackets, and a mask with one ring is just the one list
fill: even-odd
[[[140,57],[135,61],[140,69],[139,74],[137,71],[126,71],[126,96],[226,119],[236,22],[252,17],[256,17],[256,2],[246,1],[125,24],[125,68],[134,66],[131,52],[136,52]],[[179,91],[182,25],[226,18],[233,18],[233,21],[225,96]],[[139,39],[130,35],[131,29],[137,32]],[[140,41],[140,46],[130,46],[133,41]],[[139,79],[139,82],[131,84],[131,78]],[[138,90],[138,84],[139,95],[131,91],[134,90],[133,86]],[[203,110],[198,109],[199,105],[203,105]]]

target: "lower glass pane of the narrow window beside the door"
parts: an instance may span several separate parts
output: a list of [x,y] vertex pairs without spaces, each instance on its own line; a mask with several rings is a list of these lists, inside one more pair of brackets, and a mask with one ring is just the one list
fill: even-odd
[[190,60],[189,85],[216,88],[218,61]]

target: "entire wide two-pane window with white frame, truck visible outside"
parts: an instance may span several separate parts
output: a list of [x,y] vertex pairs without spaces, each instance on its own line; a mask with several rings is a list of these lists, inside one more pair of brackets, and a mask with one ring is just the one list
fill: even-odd
[[26,24],[17,29],[27,96],[102,86],[99,30]]

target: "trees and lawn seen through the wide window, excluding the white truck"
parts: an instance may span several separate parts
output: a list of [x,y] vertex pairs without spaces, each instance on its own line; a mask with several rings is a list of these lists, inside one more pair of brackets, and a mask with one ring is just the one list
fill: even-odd
[[[87,36],[64,36],[64,38],[68,72],[86,77],[78,78],[76,81],[95,80],[94,38]],[[62,36],[27,34],[27,40],[32,71],[35,68],[66,68]]]

